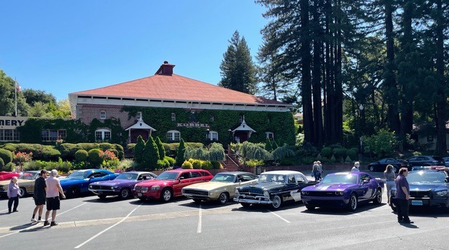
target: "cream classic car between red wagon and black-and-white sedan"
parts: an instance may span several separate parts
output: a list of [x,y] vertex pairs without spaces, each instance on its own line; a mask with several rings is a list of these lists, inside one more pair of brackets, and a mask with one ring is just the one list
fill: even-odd
[[187,187],[182,187],[182,195],[194,202],[202,200],[218,201],[226,204],[229,199],[234,198],[234,190],[241,185],[251,185],[257,183],[257,176],[248,172],[222,172],[217,173],[212,180],[207,183],[196,183]]

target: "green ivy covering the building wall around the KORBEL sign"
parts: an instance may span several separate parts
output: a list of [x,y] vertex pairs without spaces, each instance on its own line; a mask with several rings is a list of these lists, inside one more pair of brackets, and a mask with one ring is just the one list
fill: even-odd
[[[231,141],[229,129],[233,130],[240,126],[240,117],[245,116],[246,124],[253,128],[250,141],[264,142],[265,132],[274,133],[274,139],[279,145],[287,143],[295,144],[295,125],[293,115],[290,112],[261,112],[261,111],[236,111],[236,110],[190,110],[180,108],[157,108],[157,107],[123,107],[123,112],[128,112],[128,117],[135,117],[137,112],[142,112],[142,119],[146,124],[152,126],[156,131],[152,132],[153,138],[159,136],[164,143],[172,143],[166,138],[167,131],[180,131],[181,137],[189,142],[206,142],[206,129],[218,133],[218,142],[228,145]],[[171,120],[171,114],[176,115],[175,121]],[[213,121],[211,119],[213,117]],[[196,121],[199,124],[209,124],[205,127],[182,127],[178,123],[189,123]]]

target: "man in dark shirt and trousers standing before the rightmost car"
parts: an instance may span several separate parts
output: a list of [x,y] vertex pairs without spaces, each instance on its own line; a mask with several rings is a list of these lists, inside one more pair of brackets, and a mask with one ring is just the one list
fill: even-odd
[[396,201],[396,209],[398,213],[398,223],[413,223],[408,218],[408,199],[410,199],[410,187],[408,186],[408,169],[399,169],[398,177],[396,177],[396,193],[394,195]]

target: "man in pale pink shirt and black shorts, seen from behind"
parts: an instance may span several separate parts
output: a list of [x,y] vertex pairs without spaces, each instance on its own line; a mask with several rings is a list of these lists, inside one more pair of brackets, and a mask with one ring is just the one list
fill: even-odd
[[[61,194],[62,199],[65,199],[64,191],[62,191],[62,187],[60,184],[60,181],[58,179],[58,171],[56,169],[53,169],[50,172],[50,177],[46,179],[46,185],[47,185],[47,211],[45,213],[45,221],[43,222],[43,226],[46,225],[58,225],[56,223],[56,213],[60,209],[60,200],[59,200],[59,194]],[[48,216],[50,216],[51,213],[51,223],[48,223]]]

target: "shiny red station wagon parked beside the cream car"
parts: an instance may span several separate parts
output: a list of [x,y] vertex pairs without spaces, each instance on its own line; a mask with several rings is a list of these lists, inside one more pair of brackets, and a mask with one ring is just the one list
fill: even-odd
[[203,183],[212,179],[212,174],[202,169],[174,169],[161,173],[153,180],[134,186],[133,195],[138,199],[161,199],[168,202],[172,197],[182,196],[182,187]]

